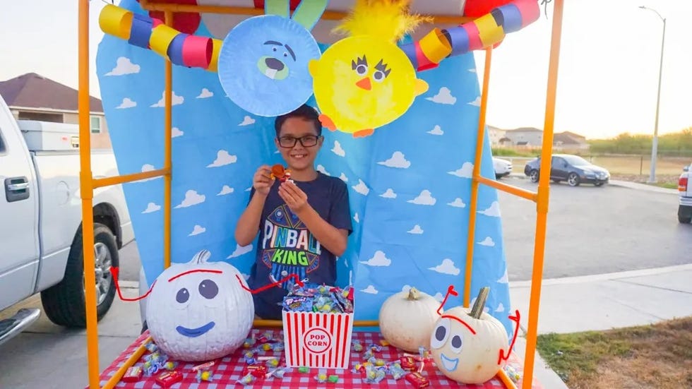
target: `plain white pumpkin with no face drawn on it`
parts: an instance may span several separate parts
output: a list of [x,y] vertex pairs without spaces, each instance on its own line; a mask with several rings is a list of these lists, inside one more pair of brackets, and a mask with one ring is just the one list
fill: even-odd
[[407,352],[430,348],[430,333],[439,318],[439,301],[412,287],[393,294],[380,308],[379,325],[384,339]]

